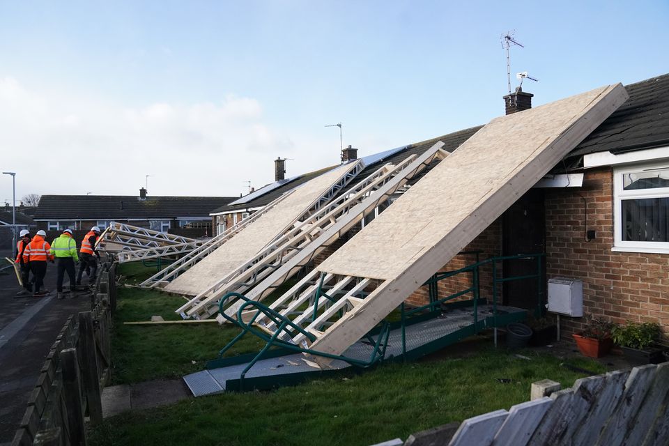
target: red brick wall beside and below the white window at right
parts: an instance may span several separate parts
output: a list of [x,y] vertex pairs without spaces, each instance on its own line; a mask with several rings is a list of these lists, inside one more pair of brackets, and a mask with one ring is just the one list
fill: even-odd
[[[584,201],[587,225],[584,226]],[[587,226],[587,227],[586,227]],[[585,241],[585,229],[597,231]],[[583,312],[616,323],[654,321],[669,328],[669,255],[612,252],[613,171],[587,171],[583,188],[546,192],[546,275],[583,279]],[[562,318],[564,334],[583,318]]]

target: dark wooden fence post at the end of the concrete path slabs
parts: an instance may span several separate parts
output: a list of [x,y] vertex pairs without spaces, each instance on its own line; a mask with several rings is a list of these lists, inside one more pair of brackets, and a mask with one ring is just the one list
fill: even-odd
[[100,372],[98,371],[98,354],[95,349],[95,332],[93,331],[93,315],[91,312],[79,313],[79,342],[84,352],[84,392],[89,408],[91,424],[102,422],[102,398],[100,397]]

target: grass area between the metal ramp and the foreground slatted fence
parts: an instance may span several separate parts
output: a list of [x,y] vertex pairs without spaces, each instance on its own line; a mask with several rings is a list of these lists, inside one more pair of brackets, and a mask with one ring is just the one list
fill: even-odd
[[[491,347],[274,392],[222,394],[125,413],[91,435],[94,445],[371,445],[527,401],[544,378],[573,385],[561,360]],[[603,372],[585,358],[570,361]],[[507,378],[511,383],[500,383]],[[177,441],[178,439],[178,441]],[[175,443],[176,442],[176,443]]]

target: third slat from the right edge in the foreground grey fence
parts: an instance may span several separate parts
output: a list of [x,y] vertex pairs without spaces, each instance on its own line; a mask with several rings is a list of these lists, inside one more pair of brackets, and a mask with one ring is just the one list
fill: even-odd
[[601,388],[594,394],[594,403],[589,405],[590,409],[576,426],[576,432],[571,438],[574,445],[594,445],[597,442],[606,420],[622,397],[629,372],[610,371],[602,377]]

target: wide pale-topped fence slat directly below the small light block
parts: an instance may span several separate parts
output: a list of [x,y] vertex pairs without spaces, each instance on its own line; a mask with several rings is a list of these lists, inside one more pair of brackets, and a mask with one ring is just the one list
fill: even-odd
[[550,397],[541,397],[512,406],[509,416],[493,440],[493,445],[525,446],[552,404],[553,399]]

